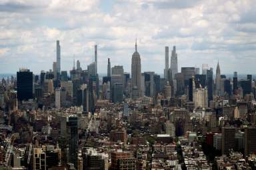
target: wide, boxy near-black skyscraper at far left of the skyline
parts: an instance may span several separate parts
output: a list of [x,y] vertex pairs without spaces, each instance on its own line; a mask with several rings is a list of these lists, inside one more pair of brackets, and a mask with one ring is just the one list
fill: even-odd
[[33,73],[29,69],[19,69],[17,72],[18,100],[33,99]]

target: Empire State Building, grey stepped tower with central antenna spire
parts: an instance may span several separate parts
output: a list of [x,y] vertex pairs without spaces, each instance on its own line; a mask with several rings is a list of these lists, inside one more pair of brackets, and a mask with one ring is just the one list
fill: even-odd
[[135,52],[131,57],[131,85],[132,96],[137,98],[141,96],[141,57],[137,51],[137,40],[135,43]]

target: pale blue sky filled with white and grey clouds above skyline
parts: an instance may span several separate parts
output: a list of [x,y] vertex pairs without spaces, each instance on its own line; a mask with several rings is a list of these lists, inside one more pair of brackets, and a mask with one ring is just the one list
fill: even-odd
[[[0,73],[21,67],[53,68],[56,40],[61,70],[73,59],[98,72],[131,71],[137,37],[142,71],[163,74],[165,46],[176,45],[178,67],[207,63],[221,73],[255,73],[256,3],[253,0],[0,0]],[[170,64],[169,64],[170,65]]]

